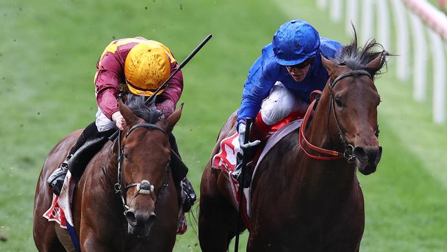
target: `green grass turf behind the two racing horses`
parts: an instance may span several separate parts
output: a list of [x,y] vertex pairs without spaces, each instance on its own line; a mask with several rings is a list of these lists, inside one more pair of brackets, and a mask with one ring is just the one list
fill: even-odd
[[[343,24],[315,6],[292,0],[0,1],[0,233],[8,237],[0,251],[36,251],[37,176],[58,140],[94,120],[95,63],[111,40],[155,39],[182,61],[213,34],[184,67],[185,106],[175,128],[199,191],[201,171],[221,125],[239,105],[248,68],[281,23],[305,19],[321,36],[349,43]],[[361,249],[447,251],[447,126],[432,123],[430,98],[413,102],[411,82],[397,81],[393,59],[376,85],[384,153],[375,174],[359,175],[367,218]],[[200,251],[196,233],[189,222],[175,251]]]

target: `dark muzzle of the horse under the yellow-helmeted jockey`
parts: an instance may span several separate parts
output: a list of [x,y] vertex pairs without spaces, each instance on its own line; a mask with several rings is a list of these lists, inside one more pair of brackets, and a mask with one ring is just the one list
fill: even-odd
[[126,212],[128,232],[142,237],[149,236],[149,232],[155,223],[157,216],[155,213],[147,211],[135,211],[129,209]]

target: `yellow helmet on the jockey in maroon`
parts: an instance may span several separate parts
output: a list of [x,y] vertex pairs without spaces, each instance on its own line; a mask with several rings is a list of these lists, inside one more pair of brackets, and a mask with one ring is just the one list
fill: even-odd
[[[151,96],[169,77],[171,63],[164,48],[140,43],[127,54],[124,75],[127,87],[133,94]],[[160,94],[160,90],[157,94]]]

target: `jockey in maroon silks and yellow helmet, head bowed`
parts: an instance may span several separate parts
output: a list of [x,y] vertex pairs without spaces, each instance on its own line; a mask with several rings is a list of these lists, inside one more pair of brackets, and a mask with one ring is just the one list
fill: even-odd
[[[61,167],[48,178],[56,195],[61,192],[68,169],[74,178],[80,178],[87,165],[83,160],[88,162],[117,128],[122,130],[126,127],[118,109],[118,95],[151,96],[178,67],[171,50],[157,41],[138,36],[118,39],[107,45],[96,63],[96,121],[84,129]],[[155,107],[163,112],[164,118],[173,113],[182,90],[182,71],[178,71],[155,99]],[[178,154],[172,134],[169,140],[171,148]],[[182,180],[182,187],[186,193],[184,211],[189,211],[196,200],[195,192],[186,177]]]

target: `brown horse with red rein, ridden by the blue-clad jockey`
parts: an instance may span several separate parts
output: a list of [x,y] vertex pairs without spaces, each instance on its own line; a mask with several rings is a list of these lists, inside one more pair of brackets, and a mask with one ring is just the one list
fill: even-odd
[[[329,80],[312,121],[306,127],[316,100],[302,132],[292,132],[277,143],[252,180],[247,251],[359,250],[364,200],[356,168],[364,175],[373,173],[382,154],[380,96],[373,77],[380,74],[389,54],[373,52],[377,46],[382,48],[371,40],[358,49],[354,39],[338,59],[321,57]],[[221,140],[235,133],[235,124],[236,113],[221,129],[212,156]],[[201,249],[227,251],[238,216],[226,172],[212,169],[208,162],[200,193]]]

